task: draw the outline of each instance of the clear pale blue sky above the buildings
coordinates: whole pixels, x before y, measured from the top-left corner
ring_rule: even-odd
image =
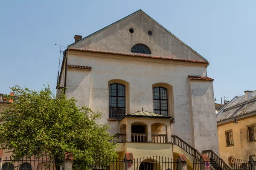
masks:
[[[0,5],[0,93],[55,91],[58,50],[142,9],[210,65],[217,102],[256,90],[255,0],[5,0]]]

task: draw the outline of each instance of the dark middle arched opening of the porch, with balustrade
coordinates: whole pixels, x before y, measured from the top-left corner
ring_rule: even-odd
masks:
[[[131,124],[131,142],[147,142],[147,124],[134,122]]]

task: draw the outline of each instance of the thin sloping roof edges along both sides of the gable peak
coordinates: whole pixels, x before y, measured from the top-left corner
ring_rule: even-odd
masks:
[[[115,25],[115,24],[117,24],[117,23],[120,23],[122,20],[125,20],[125,19],[127,19],[128,17],[131,17],[131,16],[133,16],[134,14],[137,14],[137,13],[139,13],[139,12],[142,12],[143,14],[145,14],[146,16],[148,16],[151,20],[153,20],[155,23],[157,23],[160,27],[162,27],[164,30],[166,30],[169,34],[171,34],[171,35],[172,35],[173,37],[175,37],[177,40],[179,40],[179,41],[182,42],[184,45],[186,45],[186,47],[188,47],[188,48],[191,49],[193,52],[195,52],[195,54],[197,54],[198,56],[200,56],[201,58],[203,58],[206,62],[208,62],[207,59],[205,59],[203,56],[201,56],[201,55],[200,55],[198,52],[196,52],[193,48],[191,48],[191,47],[190,47],[189,45],[187,45],[185,42],[183,42],[182,40],[180,40],[178,37],[176,37],[174,34],[172,34],[172,32],[170,32],[168,29],[166,29],[164,26],[162,26],[160,23],[158,23],[156,20],[154,20],[152,17],[150,17],[148,14],[146,14],[146,13],[145,13],[144,11],[142,11],[141,9],[139,9],[138,11],[135,11],[134,13],[132,13],[132,14],[130,14],[130,15],[124,17],[124,18],[122,18],[121,20],[118,20],[118,21],[116,21],[116,22],[114,22],[114,23],[112,23],[112,24],[110,24],[110,25],[108,25],[108,26],[106,26],[106,27],[100,29],[99,31],[94,32],[93,34],[88,35],[87,37],[82,38],[81,40],[79,40],[79,41],[77,41],[77,42],[74,42],[74,43],[68,45],[67,48],[69,48],[69,47],[71,47],[71,46],[73,46],[73,45],[75,45],[75,44],[77,44],[77,43],[79,43],[79,42],[81,42],[81,41],[87,39],[88,37],[91,37],[91,36],[93,36],[93,35],[95,35],[95,34],[101,32],[101,31],[103,31],[103,30],[105,30],[105,29],[107,29],[107,28],[109,28],[109,27],[111,27],[111,26],[113,26],[113,25]]]

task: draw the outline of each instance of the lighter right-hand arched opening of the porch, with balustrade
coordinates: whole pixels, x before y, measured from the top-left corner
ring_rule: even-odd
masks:
[[[163,123],[154,123],[151,125],[151,142],[167,143],[167,126]]]

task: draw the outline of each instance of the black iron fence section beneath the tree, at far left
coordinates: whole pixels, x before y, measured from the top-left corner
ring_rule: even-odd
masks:
[[[2,170],[63,170],[64,161],[57,161],[46,155],[32,156],[30,158],[3,159]]]

